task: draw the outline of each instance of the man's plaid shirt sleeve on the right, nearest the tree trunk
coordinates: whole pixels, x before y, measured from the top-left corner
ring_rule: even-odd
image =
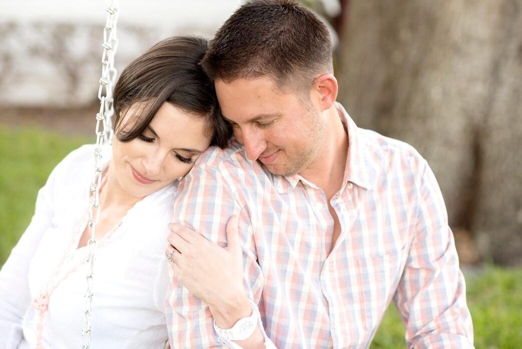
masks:
[[[408,348],[473,348],[466,285],[441,191],[428,164],[419,184],[417,223],[394,302]]]

